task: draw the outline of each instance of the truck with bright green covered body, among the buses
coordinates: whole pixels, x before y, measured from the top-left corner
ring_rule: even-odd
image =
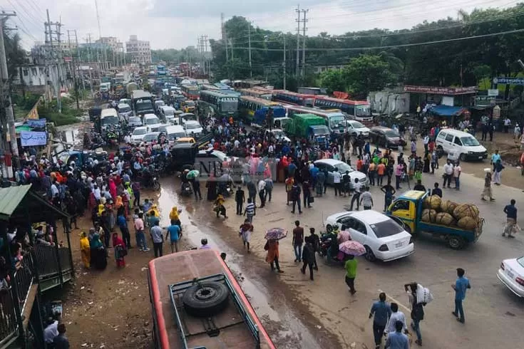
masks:
[[[313,114],[295,114],[292,122],[286,124],[285,130],[288,135],[305,137],[318,143],[326,142],[329,137],[326,120]]]

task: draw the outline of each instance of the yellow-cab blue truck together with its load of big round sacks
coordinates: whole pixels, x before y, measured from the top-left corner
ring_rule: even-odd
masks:
[[[411,234],[426,231],[445,239],[452,249],[476,242],[484,219],[474,204],[457,204],[428,192],[409,190],[392,202],[386,214],[400,219]]]

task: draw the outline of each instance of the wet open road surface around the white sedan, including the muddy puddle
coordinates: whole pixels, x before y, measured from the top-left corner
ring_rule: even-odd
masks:
[[[423,184],[429,187],[435,180],[441,182],[441,177],[424,175]],[[461,192],[445,189],[444,199],[478,204],[481,216],[486,219],[481,239],[463,251],[454,251],[443,241],[423,235],[416,241],[415,254],[406,259],[389,263],[359,259],[355,296],[347,291],[341,266],[327,265],[319,256],[315,281],[302,275],[299,264],[293,262],[290,237],[280,244],[284,274],[272,273],[264,261],[266,229],[282,226],[291,230],[294,220],[300,219],[306,230],[313,226],[322,231],[322,222],[329,214],[344,210],[348,199],[333,197],[331,188],[327,197],[316,200],[313,209],[305,209],[304,214],[299,215],[289,212],[284,188],[275,184],[273,202],[257,210],[251,254],[243,249],[238,237],[242,217],[235,215],[232,198],[226,203],[229,218],[217,219],[209,202],[195,202],[192,197],[179,199],[175,194],[178,182],[165,178],[159,204],[165,212],[163,224],[168,224],[166,215],[170,207],[178,205],[183,209],[182,221],[187,232],[184,239],[198,246],[205,236],[210,244],[227,253],[227,263],[278,348],[373,348],[371,320],[367,318],[372,301],[378,297],[379,290],[385,291],[390,301],[401,303],[401,311],[409,318],[409,311],[403,308],[408,301],[402,286],[410,281],[422,283],[435,296],[433,303],[426,306],[426,318],[421,323],[425,348],[521,348],[524,303],[496,278],[500,261],[523,254],[522,236],[511,241],[500,236],[505,222],[502,209],[510,197],[517,200],[521,197],[520,190],[496,187],[494,193],[498,200],[489,203],[479,200],[482,179],[464,174],[462,183]],[[371,193],[376,207],[383,207],[379,189],[372,188]],[[524,222],[520,225],[524,226]],[[451,316],[454,299],[451,283],[459,266],[466,269],[473,286],[464,305],[465,325]]]

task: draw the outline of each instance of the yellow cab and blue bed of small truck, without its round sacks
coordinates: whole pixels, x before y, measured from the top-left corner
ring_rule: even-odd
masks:
[[[446,240],[452,249],[463,249],[466,245],[474,243],[481,237],[484,219],[479,218],[475,229],[461,229],[458,226],[448,226],[422,221],[423,202],[429,192],[409,190],[394,200],[386,209],[386,214],[395,219],[400,219],[406,230],[411,234],[420,234],[426,231]]]

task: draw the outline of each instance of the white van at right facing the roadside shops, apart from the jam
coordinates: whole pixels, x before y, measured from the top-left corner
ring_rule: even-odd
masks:
[[[488,157],[488,150],[473,135],[451,128],[444,128],[438,132],[436,147],[437,150],[441,149],[443,152],[451,153],[453,158],[461,161],[483,160]]]

